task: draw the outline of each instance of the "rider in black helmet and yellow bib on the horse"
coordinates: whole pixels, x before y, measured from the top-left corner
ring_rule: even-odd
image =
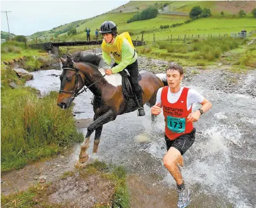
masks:
[[[139,86],[138,75],[139,67],[137,63],[137,53],[133,45],[126,38],[117,35],[117,26],[112,21],[105,21],[100,26],[100,33],[103,35],[102,57],[105,62],[110,64],[112,55],[115,63],[111,69],[106,70],[107,75],[121,72],[125,68],[131,75],[131,85],[134,94],[139,102],[139,116],[144,116],[143,96],[141,86]]]

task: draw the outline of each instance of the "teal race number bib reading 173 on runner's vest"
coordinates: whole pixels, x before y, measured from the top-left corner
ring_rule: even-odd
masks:
[[[174,133],[185,132],[185,118],[175,118],[172,116],[167,116],[167,127]]]

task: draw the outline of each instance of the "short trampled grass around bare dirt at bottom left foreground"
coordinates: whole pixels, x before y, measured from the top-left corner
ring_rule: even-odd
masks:
[[[95,207],[123,207],[128,208],[129,192],[126,185],[126,172],[123,167],[107,165],[106,163],[95,161],[86,167],[79,169],[79,175],[86,180],[89,175],[100,175],[114,185],[110,206],[96,204]],[[74,172],[66,172],[61,176],[61,180],[73,177]],[[30,189],[18,192],[17,194],[1,195],[2,207],[63,207],[63,204],[52,204],[48,201],[49,195],[53,194],[52,184],[37,185]]]

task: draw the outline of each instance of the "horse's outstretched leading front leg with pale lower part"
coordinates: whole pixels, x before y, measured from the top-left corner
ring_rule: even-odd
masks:
[[[91,123],[88,126],[87,134],[85,136],[84,142],[81,145],[81,151],[79,154],[79,163],[85,163],[88,160],[89,155],[86,153],[86,150],[89,148],[90,136],[93,133],[93,131],[95,131],[95,129],[97,129],[97,128],[100,129],[100,127],[103,126],[103,124],[114,120],[116,117],[117,117],[117,115],[114,114],[114,112],[112,110],[109,110],[109,111],[105,112],[105,114],[100,116],[98,119],[93,121],[93,123]],[[101,131],[100,131],[100,134],[101,134]],[[95,135],[95,137],[96,137],[96,135]],[[100,137],[98,137],[98,138],[100,138]]]

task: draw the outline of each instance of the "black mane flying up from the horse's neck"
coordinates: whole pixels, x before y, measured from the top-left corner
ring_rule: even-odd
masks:
[[[74,52],[71,56],[74,61],[87,62],[99,67],[102,62],[101,55],[88,54],[84,52]]]

